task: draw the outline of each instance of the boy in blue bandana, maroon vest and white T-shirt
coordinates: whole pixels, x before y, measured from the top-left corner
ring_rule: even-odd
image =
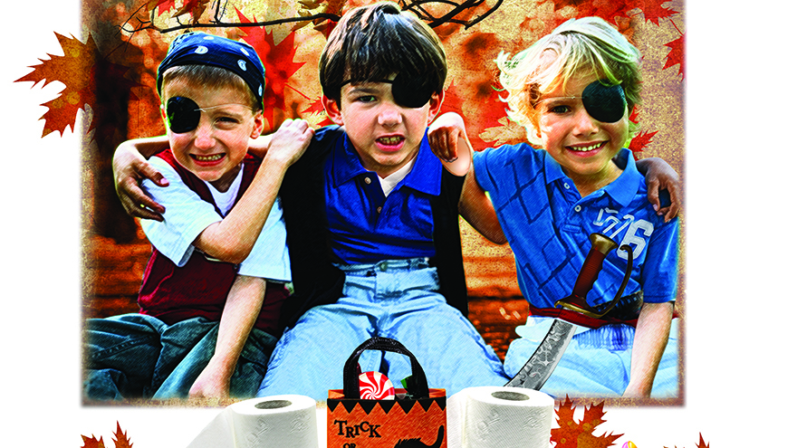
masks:
[[[291,280],[282,177],[312,138],[289,120],[261,161],[264,68],[254,49],[206,33],[180,35],[158,67],[169,149],[150,159],[167,206],[141,223],[152,243],[137,314],[86,322],[84,393],[91,400],[252,396],[280,334]]]

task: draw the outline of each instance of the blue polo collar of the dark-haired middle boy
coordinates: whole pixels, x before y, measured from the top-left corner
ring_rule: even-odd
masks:
[[[439,181],[442,169],[443,164],[432,153],[425,134],[418,149],[415,166],[395,186],[394,190],[398,190],[401,186],[408,186],[428,195],[440,195]],[[343,138],[343,144],[338,145],[332,152],[332,181],[334,186],[341,186],[341,184],[349,182],[354,177],[369,172],[362,167],[360,156],[357,155],[357,151],[354,150],[349,138]]]

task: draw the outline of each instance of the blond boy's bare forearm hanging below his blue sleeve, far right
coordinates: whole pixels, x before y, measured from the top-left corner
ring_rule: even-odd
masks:
[[[673,303],[643,303],[631,348],[629,386],[623,396],[648,397],[669,338]]]

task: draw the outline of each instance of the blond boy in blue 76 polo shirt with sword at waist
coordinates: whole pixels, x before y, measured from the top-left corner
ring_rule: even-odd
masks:
[[[494,239],[505,235],[512,247],[530,305],[506,374],[523,367],[554,318],[579,325],[543,386],[553,396],[677,396],[678,221],[648,203],[648,186],[623,148],[639,103],[639,58],[617,30],[592,17],[560,25],[513,59],[502,53],[509,116],[545,150],[486,149],[475,153],[467,176],[466,200],[485,215],[497,212]],[[443,141],[465,133],[456,115],[433,128]],[[442,146],[440,157],[456,157],[453,144]],[[573,291],[593,233],[632,249],[628,295],[604,319],[554,306]],[[615,297],[628,257],[621,249],[607,255],[588,304]]]

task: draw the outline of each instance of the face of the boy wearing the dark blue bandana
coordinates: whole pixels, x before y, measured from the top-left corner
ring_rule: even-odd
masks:
[[[168,129],[167,108],[161,107],[169,148],[181,166],[226,191],[246,156],[249,139],[263,130],[263,114],[252,110],[245,92],[232,86],[209,89],[177,79],[164,85],[164,104],[175,97],[193,100],[202,110],[195,129],[177,133]]]

